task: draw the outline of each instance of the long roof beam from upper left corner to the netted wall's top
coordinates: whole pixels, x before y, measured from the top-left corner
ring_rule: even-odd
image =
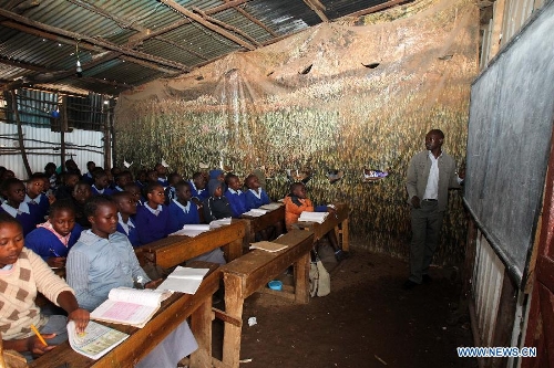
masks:
[[[0,15],[9,18],[11,20],[14,20],[16,22],[19,22],[19,23],[22,23],[22,24],[25,24],[25,25],[29,25],[32,28],[37,28],[37,29],[45,31],[45,32],[50,32],[50,33],[58,34],[58,35],[63,35],[63,36],[70,38],[70,39],[80,40],[80,44],[83,42],[88,42],[90,44],[98,45],[98,46],[101,46],[101,48],[104,48],[104,49],[107,49],[111,51],[121,52],[122,54],[125,54],[127,56],[134,56],[136,59],[151,61],[151,62],[154,62],[157,64],[162,64],[162,65],[170,66],[173,69],[182,70],[184,72],[189,71],[189,67],[187,65],[182,64],[182,63],[166,60],[164,57],[150,55],[150,54],[146,54],[146,53],[143,53],[140,51],[129,49],[129,48],[124,48],[124,46],[122,48],[122,46],[119,46],[119,45],[113,44],[111,42],[104,41],[102,39],[95,39],[95,38],[91,38],[91,36],[80,34],[76,32],[70,32],[70,31],[65,31],[65,30],[62,30],[62,29],[57,28],[57,27],[40,23],[40,22],[27,19],[24,17],[18,15],[16,13],[12,13],[12,12],[3,10],[3,9],[0,9]],[[4,23],[6,22],[3,22],[2,24],[4,24]]]

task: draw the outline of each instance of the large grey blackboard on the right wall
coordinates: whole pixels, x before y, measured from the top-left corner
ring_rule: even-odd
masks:
[[[519,284],[541,211],[554,115],[554,2],[471,88],[464,202]]]

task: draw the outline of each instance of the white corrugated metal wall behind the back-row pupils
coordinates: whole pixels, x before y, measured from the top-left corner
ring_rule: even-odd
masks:
[[[48,162],[60,166],[61,134],[50,128],[23,126],[25,148],[31,170],[43,171]],[[98,166],[104,162],[103,134],[100,132],[73,129],[65,133],[66,159],[73,157],[81,171],[86,171],[86,162],[94,161]],[[12,170],[16,177],[27,179],[23,159],[19,149],[18,127],[14,124],[0,123],[0,166]]]

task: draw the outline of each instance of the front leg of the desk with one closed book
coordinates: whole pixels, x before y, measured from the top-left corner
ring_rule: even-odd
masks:
[[[225,312],[243,320],[243,284],[240,277],[232,274],[224,275],[225,282]],[[223,334],[223,362],[227,367],[238,368],[240,359],[240,333],[242,326],[226,323]]]

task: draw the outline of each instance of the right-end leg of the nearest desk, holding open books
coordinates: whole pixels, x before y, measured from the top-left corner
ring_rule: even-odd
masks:
[[[212,297],[191,315],[191,330],[198,343],[191,354],[191,368],[212,367]]]

